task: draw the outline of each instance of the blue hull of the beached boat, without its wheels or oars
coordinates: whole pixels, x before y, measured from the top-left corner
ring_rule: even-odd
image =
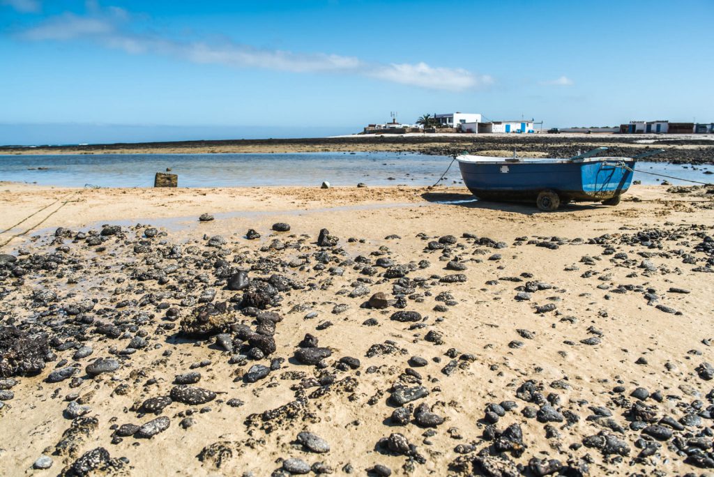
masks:
[[[560,201],[607,201],[632,183],[635,161],[459,161],[468,190],[479,199],[535,201],[541,191],[555,191]],[[630,170],[621,165],[628,166]]]

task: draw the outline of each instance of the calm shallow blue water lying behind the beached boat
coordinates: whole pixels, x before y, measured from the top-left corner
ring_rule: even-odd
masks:
[[[0,181],[48,186],[151,187],[154,174],[170,168],[181,187],[223,186],[370,186],[431,185],[451,157],[405,153],[301,154],[92,154],[63,156],[0,156]],[[41,168],[41,169],[40,169]],[[639,162],[640,171],[667,174],[695,181],[714,182],[714,166],[680,166]],[[643,184],[657,178],[635,172]],[[461,181],[453,164],[443,182]],[[672,184],[685,182],[668,179]]]

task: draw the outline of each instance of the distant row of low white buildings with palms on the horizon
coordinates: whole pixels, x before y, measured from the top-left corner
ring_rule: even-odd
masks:
[[[392,121],[368,124],[361,134],[536,134],[559,133],[609,133],[609,134],[714,134],[714,123],[675,123],[665,120],[630,121],[618,127],[551,128],[543,131],[543,122],[534,119],[512,121],[484,121],[478,113],[424,114],[415,124],[400,123],[396,113]],[[536,127],[539,126],[539,127]]]

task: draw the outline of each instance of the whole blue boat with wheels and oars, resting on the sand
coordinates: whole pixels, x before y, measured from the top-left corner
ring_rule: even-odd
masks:
[[[635,161],[660,151],[631,158],[593,157],[600,147],[570,159],[456,156],[468,190],[487,201],[535,201],[538,209],[554,211],[570,201],[616,206],[632,183]]]

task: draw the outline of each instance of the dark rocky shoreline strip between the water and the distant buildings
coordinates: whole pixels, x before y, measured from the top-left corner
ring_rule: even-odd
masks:
[[[578,151],[607,146],[608,155],[634,156],[645,148],[665,152],[648,161],[674,164],[714,164],[714,141],[697,135],[668,137],[641,135],[555,135],[491,134],[463,136],[353,136],[306,139],[241,139],[224,141],[176,141],[127,144],[90,144],[83,146],[3,146],[0,154],[211,154],[211,153],[290,153],[398,151],[432,155],[454,152],[503,151],[511,154],[544,154],[548,157],[572,157]]]

